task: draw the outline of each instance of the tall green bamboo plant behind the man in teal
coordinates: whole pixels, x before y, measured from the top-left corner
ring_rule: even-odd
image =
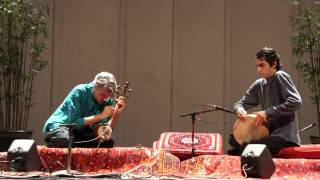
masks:
[[[47,1],[0,1],[0,131],[26,130],[34,77],[46,65]]]

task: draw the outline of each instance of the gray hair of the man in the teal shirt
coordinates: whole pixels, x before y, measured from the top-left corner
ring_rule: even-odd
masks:
[[[112,95],[114,95],[117,89],[117,80],[114,75],[109,72],[98,73],[92,83],[93,86],[98,90],[110,90],[112,92]]]

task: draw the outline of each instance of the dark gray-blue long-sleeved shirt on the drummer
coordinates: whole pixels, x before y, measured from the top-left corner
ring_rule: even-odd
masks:
[[[297,110],[302,104],[301,97],[289,74],[277,71],[272,77],[256,80],[234,109],[248,110],[258,105],[266,112],[270,136],[301,144]]]

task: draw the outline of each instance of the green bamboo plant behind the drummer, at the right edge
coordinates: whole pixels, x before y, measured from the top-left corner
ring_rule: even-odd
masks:
[[[320,2],[315,0],[293,2],[296,6],[291,16],[292,53],[298,59],[295,67],[311,92],[317,118],[320,120]]]

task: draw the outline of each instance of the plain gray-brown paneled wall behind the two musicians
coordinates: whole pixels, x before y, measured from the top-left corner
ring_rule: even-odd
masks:
[[[209,103],[231,108],[257,78],[254,55],[264,46],[278,50],[301,92],[300,127],[315,118],[292,67],[287,0],[53,0],[51,12],[49,66],[36,79],[29,123],[38,144],[50,113],[100,71],[133,89],[115,130],[118,146],[151,146],[161,132],[191,131],[179,114]],[[235,117],[200,118],[196,132],[221,133],[227,149]],[[302,134],[303,143],[316,132]]]

